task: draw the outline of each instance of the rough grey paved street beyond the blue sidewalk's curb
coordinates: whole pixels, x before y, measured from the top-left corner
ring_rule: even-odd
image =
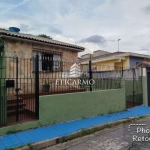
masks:
[[[44,150],[149,150],[150,138],[149,142],[136,142],[136,138],[133,142],[133,136],[149,137],[149,129],[150,117],[146,117]]]

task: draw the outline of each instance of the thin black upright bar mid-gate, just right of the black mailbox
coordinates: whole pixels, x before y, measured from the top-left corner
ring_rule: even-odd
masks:
[[[18,99],[18,57],[16,57],[16,101],[17,101],[17,106],[16,106],[16,122],[19,120],[19,112],[18,112],[18,103],[19,103],[19,99]]]

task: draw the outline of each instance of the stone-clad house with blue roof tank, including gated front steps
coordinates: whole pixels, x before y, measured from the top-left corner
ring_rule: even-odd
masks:
[[[76,92],[76,87],[57,86],[56,80],[70,74],[78,52],[84,51],[17,30],[0,29],[0,126],[38,119],[39,95]]]

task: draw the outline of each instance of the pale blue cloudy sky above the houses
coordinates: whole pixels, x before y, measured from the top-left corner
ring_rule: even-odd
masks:
[[[149,54],[150,0],[0,0],[0,28],[96,50]]]

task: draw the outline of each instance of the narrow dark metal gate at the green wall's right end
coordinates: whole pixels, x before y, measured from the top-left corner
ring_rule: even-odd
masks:
[[[143,104],[142,77],[136,77],[132,69],[132,77],[125,79],[126,108]]]

